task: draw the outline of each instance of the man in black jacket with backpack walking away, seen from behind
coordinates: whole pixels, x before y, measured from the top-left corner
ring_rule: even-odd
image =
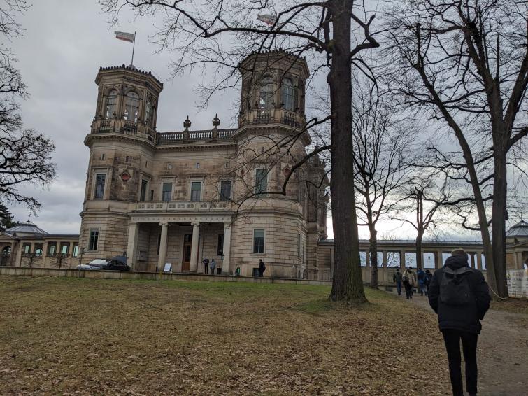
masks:
[[[477,338],[480,320],[490,308],[490,291],[482,272],[471,269],[468,255],[453,250],[443,268],[434,271],[429,304],[438,314],[438,327],[448,353],[453,396],[464,396],[460,369],[460,340],[466,362],[466,390],[477,393]]]

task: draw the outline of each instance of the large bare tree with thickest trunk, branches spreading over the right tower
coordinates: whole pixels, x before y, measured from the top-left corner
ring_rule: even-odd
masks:
[[[355,196],[350,183],[351,69],[354,62],[364,67],[359,52],[378,46],[369,31],[373,15],[364,22],[352,9],[352,0],[213,0],[206,4],[183,0],[101,0],[101,3],[114,13],[114,21],[124,6],[133,8],[137,15],[162,15],[165,24],[160,43],[178,50],[180,55],[174,64],[175,73],[201,65],[211,66],[217,76],[213,86],[204,91],[206,96],[236,84],[238,64],[250,51],[260,53],[280,46],[298,57],[308,55],[312,70],[326,71],[331,98],[331,208],[333,217],[340,220],[334,222],[336,255],[330,298],[364,301],[356,208],[350,199]],[[257,15],[264,22],[259,22]],[[352,34],[357,28],[361,34]],[[227,73],[219,73],[226,67]],[[328,150],[330,146],[319,150]],[[300,162],[309,160],[317,154],[314,153]],[[286,179],[285,183],[290,180]]]

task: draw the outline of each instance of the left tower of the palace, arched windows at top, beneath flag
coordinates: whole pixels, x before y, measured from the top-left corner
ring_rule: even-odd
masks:
[[[99,69],[80,246],[85,257],[122,255],[127,246],[129,203],[150,194],[156,118],[162,83],[134,66]]]

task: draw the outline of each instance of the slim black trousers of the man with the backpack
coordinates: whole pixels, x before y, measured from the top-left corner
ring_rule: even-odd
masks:
[[[462,386],[462,370],[460,364],[460,340],[466,362],[466,390],[468,393],[477,393],[477,339],[478,334],[461,332],[459,330],[442,330],[445,350],[448,352],[449,376],[453,396],[464,396]]]

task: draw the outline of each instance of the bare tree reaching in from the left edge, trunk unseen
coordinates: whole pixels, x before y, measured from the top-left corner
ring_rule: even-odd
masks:
[[[29,7],[24,0],[6,0],[0,6],[0,201],[26,204],[35,211],[40,204],[18,191],[21,185],[48,186],[55,178],[52,141],[34,129],[23,129],[18,101],[29,96],[16,59],[5,41],[21,33],[15,16]]]

